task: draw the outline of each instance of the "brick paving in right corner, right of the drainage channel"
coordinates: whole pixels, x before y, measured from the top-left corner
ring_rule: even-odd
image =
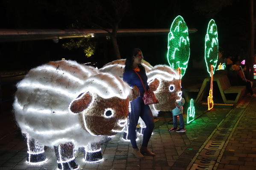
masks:
[[[218,170],[256,170],[256,98],[245,109]]]

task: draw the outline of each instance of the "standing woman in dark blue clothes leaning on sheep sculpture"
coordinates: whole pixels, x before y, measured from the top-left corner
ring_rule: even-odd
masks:
[[[149,106],[145,105],[144,101],[142,100],[145,91],[138,75],[140,75],[144,86],[146,86],[146,90],[149,89],[149,86],[147,84],[146,71],[145,68],[141,65],[142,59],[143,55],[141,50],[132,49],[132,54],[130,54],[129,57],[127,57],[126,59],[123,77],[123,80],[132,87],[133,93],[138,96],[136,99],[130,102],[131,112],[129,113],[128,128],[129,138],[133,148],[132,152],[137,158],[144,158],[142,154],[156,156],[156,154],[150,152],[150,150],[147,149],[147,144],[154,128],[154,119]],[[136,72],[138,73],[138,75],[136,74]],[[139,117],[141,117],[141,119],[145,122],[147,126],[144,131],[143,142],[140,150],[138,150],[138,146],[136,143],[136,127]]]

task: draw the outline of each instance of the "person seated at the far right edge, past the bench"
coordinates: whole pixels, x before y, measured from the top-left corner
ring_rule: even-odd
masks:
[[[252,82],[250,80],[247,80],[244,75],[244,72],[246,71],[246,66],[242,65],[241,67],[242,69],[238,71],[239,85],[246,86],[246,91],[249,92],[251,96],[256,97],[256,94],[253,94]]]

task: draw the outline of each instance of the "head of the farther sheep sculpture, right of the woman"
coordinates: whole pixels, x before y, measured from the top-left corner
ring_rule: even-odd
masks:
[[[169,66],[158,65],[147,73],[148,84],[158,104],[153,104],[154,109],[169,111],[176,107],[177,101],[182,98],[182,91],[179,84],[179,75]]]

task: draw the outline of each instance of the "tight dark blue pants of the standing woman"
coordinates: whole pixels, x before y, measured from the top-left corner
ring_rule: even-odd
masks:
[[[151,137],[151,134],[155,126],[152,112],[149,106],[144,104],[142,97],[138,97],[132,100],[130,104],[131,112],[129,113],[128,134],[130,141],[132,143],[132,148],[138,148],[136,143],[136,127],[138,124],[139,117],[141,117],[141,119],[145,122],[147,126],[143,133],[143,142],[141,146],[147,147],[148,141]]]

